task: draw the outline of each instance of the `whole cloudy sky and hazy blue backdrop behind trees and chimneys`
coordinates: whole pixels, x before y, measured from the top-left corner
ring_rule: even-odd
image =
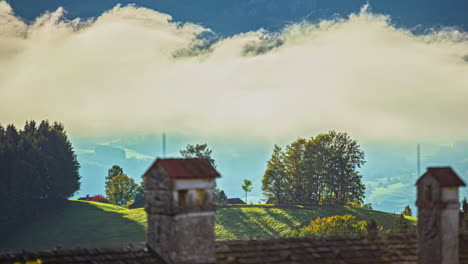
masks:
[[[377,209],[413,203],[417,143],[423,166],[468,176],[466,1],[9,3],[0,122],[63,122],[78,195],[102,193],[116,163],[138,179],[163,132],[171,156],[208,143],[220,187],[243,197],[251,179],[254,202],[274,144],[329,130],[366,151]]]

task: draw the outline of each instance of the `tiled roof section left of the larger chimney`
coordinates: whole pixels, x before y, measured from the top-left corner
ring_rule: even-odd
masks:
[[[0,264],[40,260],[43,264],[165,264],[146,248],[55,248],[0,252]]]

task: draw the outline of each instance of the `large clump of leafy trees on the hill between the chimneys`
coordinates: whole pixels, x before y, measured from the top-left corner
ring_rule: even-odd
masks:
[[[285,151],[275,145],[262,190],[279,204],[361,204],[365,186],[358,169],[364,162],[364,152],[346,133],[299,138]]]

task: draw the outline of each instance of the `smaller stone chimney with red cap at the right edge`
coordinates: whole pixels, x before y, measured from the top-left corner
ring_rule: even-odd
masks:
[[[416,185],[418,263],[458,264],[458,188],[465,183],[450,167],[433,167]]]

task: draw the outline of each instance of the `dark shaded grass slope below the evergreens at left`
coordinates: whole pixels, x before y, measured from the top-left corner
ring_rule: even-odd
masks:
[[[2,239],[0,250],[45,249],[57,245],[114,247],[143,241],[144,226],[125,218],[119,211],[68,201],[62,209],[35,219]]]

